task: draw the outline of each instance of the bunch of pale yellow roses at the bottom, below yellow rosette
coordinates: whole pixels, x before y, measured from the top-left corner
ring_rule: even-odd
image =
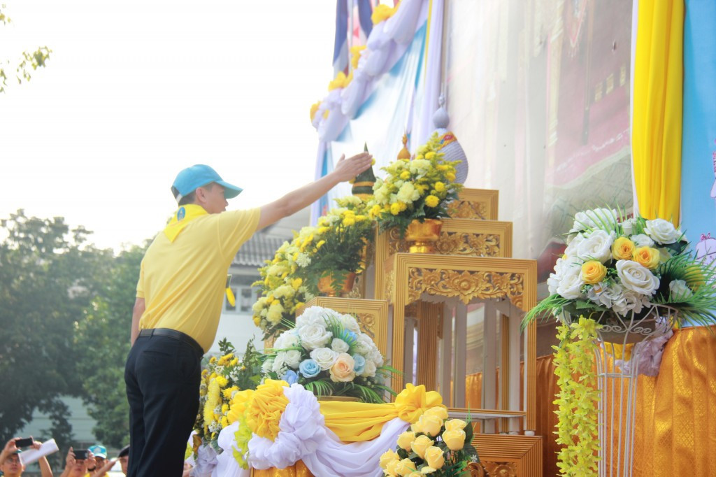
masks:
[[[380,456],[384,476],[460,476],[471,462],[478,461],[470,443],[473,426],[460,419],[448,420],[442,406],[430,408],[397,438],[397,450]]]

